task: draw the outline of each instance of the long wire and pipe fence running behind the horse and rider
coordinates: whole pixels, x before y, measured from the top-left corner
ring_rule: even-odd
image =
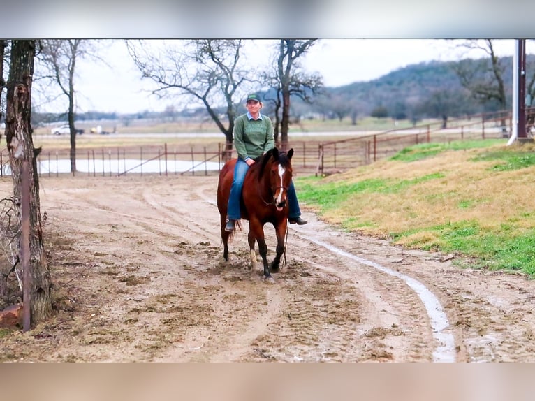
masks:
[[[373,133],[356,133],[342,140],[290,140],[278,143],[283,150],[294,149],[292,166],[295,175],[324,175],[355,168],[393,156],[405,147],[418,143],[444,143],[452,140],[508,138],[511,112],[493,112],[436,122],[403,129]],[[41,177],[72,175],[123,176],[140,175],[212,175],[219,173],[225,143],[196,145],[144,145],[140,147],[98,147],[78,149],[71,160],[68,149],[41,152],[37,171]],[[230,157],[236,157],[235,150]],[[0,176],[10,175],[8,154],[0,152]],[[73,165],[75,168],[73,168]]]

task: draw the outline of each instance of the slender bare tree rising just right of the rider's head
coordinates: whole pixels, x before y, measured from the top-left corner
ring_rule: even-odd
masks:
[[[277,54],[277,99],[282,108],[280,118],[281,147],[288,143],[288,128],[290,125],[290,97],[298,96],[307,103],[312,103],[311,96],[321,92],[323,80],[321,75],[307,74],[302,70],[299,58],[302,57],[316,42],[316,39],[295,40],[281,39]],[[275,120],[278,122],[278,118]]]

